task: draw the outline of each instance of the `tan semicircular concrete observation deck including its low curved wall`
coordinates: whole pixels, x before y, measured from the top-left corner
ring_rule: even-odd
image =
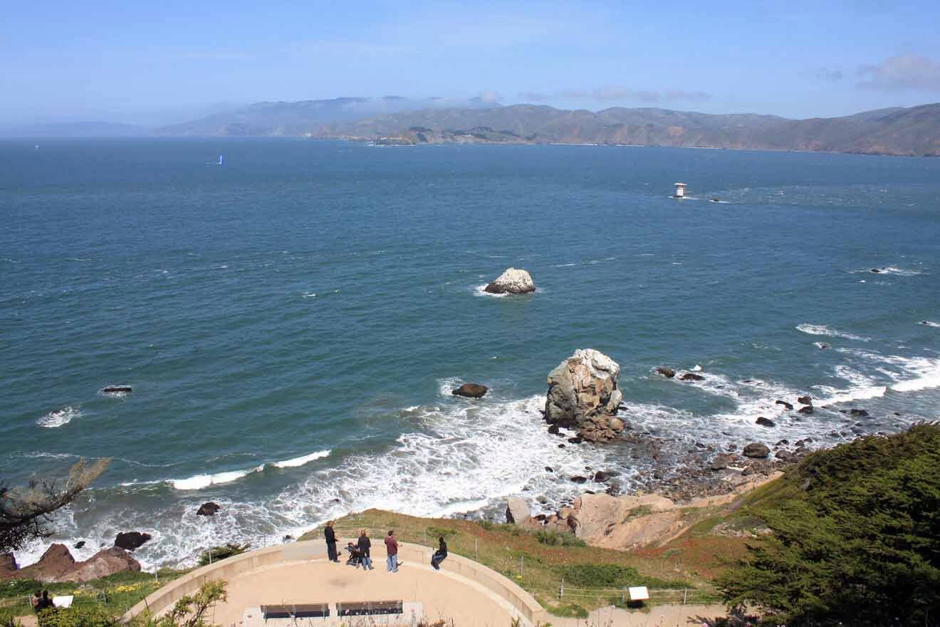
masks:
[[[341,549],[348,539],[337,542]],[[323,541],[303,541],[258,549],[229,557],[211,566],[190,572],[151,593],[134,605],[124,619],[149,608],[162,614],[180,597],[196,592],[206,581],[227,581],[228,601],[219,603],[208,616],[222,627],[269,627],[294,624],[294,619],[261,619],[261,605],[290,603],[330,603],[329,619],[305,618],[305,625],[349,624],[351,619],[368,619],[376,624],[411,625],[412,610],[434,622],[454,620],[461,627],[509,627],[514,618],[524,625],[545,622],[548,615],[540,604],[509,578],[472,559],[450,554],[440,571],[431,568],[433,550],[426,546],[399,542],[399,572],[385,571],[382,539],[372,539],[374,571],[363,571],[326,558]],[[378,544],[378,546],[376,546]],[[337,617],[336,603],[402,601],[406,612],[396,616]],[[373,620],[374,619],[374,620]]]

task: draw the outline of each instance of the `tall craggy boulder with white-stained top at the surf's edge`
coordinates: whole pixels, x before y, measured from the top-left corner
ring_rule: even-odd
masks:
[[[545,421],[574,429],[588,442],[607,442],[623,429],[617,409],[620,367],[594,349],[579,349],[548,374]]]

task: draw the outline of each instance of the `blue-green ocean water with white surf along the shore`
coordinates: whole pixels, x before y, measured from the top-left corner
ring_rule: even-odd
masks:
[[[57,520],[81,557],[130,529],[150,566],[368,507],[550,508],[585,465],[629,484],[643,460],[541,422],[578,348],[619,362],[632,428],[679,446],[938,417],[940,160],[6,141],[0,218],[0,477],[113,457]],[[484,295],[510,266],[538,292]],[[452,397],[463,381],[492,392]],[[807,393],[815,415],[775,404]],[[196,517],[207,500],[223,511]]]

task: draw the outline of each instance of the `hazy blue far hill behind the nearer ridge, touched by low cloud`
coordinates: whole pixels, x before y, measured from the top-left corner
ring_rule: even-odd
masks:
[[[460,106],[463,109],[475,109],[495,105],[479,99],[448,101],[442,98],[410,99],[401,96],[331,98],[329,100],[301,102],[258,102],[237,111],[219,113],[192,122],[164,126],[157,129],[156,133],[199,137],[304,136],[323,125],[442,106]]]

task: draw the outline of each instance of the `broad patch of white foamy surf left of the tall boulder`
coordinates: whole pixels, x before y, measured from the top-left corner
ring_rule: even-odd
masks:
[[[441,382],[442,396],[453,398],[455,381]],[[599,447],[559,448],[565,440],[547,432],[539,413],[543,403],[535,396],[410,408],[408,417],[420,424],[420,431],[402,434],[381,455],[353,456],[318,470],[301,486],[280,494],[271,508],[300,523],[311,520],[308,511],[315,504],[321,509],[311,520],[316,523],[369,508],[446,516],[524,491],[545,494],[557,505],[564,495],[580,490],[559,478],[588,475],[586,465],[606,469],[611,462]]]

